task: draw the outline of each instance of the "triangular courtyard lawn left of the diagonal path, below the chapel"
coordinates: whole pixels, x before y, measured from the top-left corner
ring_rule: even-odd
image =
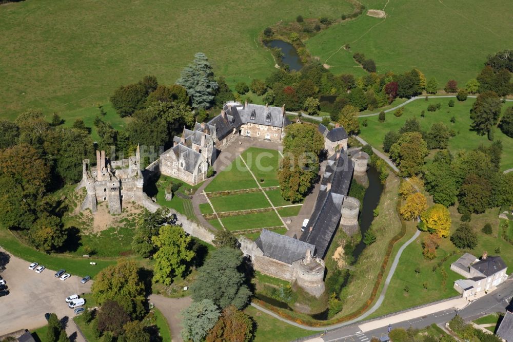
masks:
[[[258,187],[241,157],[238,157],[207,185],[205,192],[229,191]]]

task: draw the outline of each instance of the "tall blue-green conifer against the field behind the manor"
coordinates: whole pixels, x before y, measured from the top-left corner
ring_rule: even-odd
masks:
[[[176,84],[187,90],[194,108],[208,108],[219,87],[207,56],[202,52],[194,55],[194,60],[182,70]]]

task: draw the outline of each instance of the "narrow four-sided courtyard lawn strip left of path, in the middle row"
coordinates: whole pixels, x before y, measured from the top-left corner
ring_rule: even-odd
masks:
[[[242,193],[210,198],[216,212],[231,212],[236,210],[260,209],[271,206],[261,191],[257,193]]]

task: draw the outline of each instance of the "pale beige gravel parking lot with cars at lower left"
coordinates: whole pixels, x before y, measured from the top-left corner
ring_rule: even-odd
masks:
[[[73,275],[62,281],[54,277],[56,270],[49,269],[38,274],[28,269],[31,262],[38,260],[25,261],[11,255],[6,270],[1,274],[10,293],[0,297],[0,336],[19,329],[44,326],[47,312],[56,313],[59,319],[65,316],[72,319],[73,309],[68,308],[64,300],[71,294],[90,292],[92,281],[82,284],[82,278]]]

